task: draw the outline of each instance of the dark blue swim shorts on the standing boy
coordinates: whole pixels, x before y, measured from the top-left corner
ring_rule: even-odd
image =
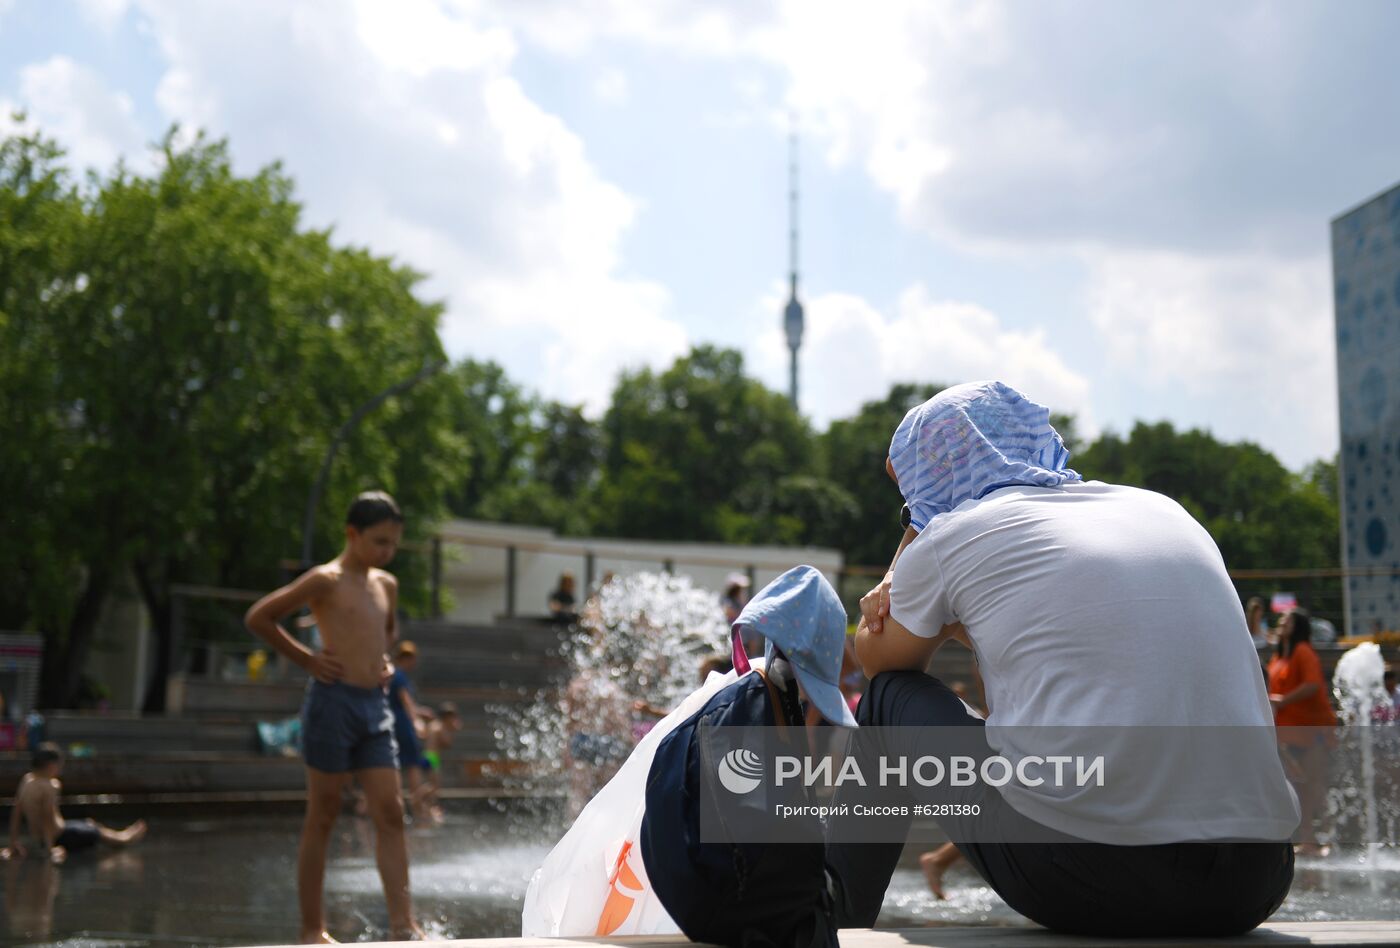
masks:
[[[395,769],[399,749],[388,695],[312,681],[301,706],[301,746],[307,766],[325,773]]]

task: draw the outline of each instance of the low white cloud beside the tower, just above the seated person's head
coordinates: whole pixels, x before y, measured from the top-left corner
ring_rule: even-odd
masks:
[[[778,295],[760,307],[776,312]],[[1043,330],[1009,329],[983,307],[932,300],[923,284],[906,288],[892,312],[843,293],[818,295],[805,311],[799,400],[818,426],[883,398],[895,382],[997,378],[1051,410],[1077,414],[1082,434],[1098,431],[1088,378],[1065,364]],[[753,368],[787,391],[787,343],[777,328],[756,340]]]

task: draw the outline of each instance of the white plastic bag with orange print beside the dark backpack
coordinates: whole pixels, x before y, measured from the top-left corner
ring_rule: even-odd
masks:
[[[753,662],[762,667],[762,661]],[[736,672],[711,674],[633,748],[622,769],[535,870],[521,913],[522,937],[664,935],[680,928],[651,889],[641,861],[647,774],[657,746]]]

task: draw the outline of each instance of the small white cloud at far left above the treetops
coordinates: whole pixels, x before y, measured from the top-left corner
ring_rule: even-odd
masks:
[[[106,171],[119,155],[127,155],[129,164],[146,158],[130,97],[67,56],[21,69],[18,101],[4,111],[13,108],[24,109],[31,126],[57,139],[76,171]]]

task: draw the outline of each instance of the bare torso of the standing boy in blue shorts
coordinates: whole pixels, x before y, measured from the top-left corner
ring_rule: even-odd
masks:
[[[325,651],[344,669],[342,681],[358,688],[378,688],[384,654],[396,636],[395,611],[399,583],[391,573],[347,570],[339,560],[315,567],[321,581],[311,599]]]

